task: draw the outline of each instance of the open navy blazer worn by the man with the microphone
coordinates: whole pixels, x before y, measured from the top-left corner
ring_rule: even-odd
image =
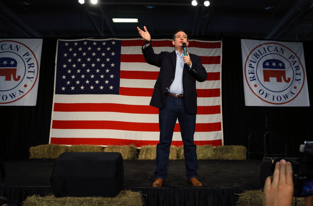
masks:
[[[160,67],[160,73],[154,85],[154,90],[150,105],[162,108],[164,94],[172,84],[176,70],[176,52],[161,52],[154,54],[152,45],[146,47],[146,44],[141,48],[145,60],[148,64]],[[201,58],[195,54],[189,54],[192,68],[187,64],[184,65],[182,74],[182,87],[184,91],[184,99],[187,109],[192,114],[197,114],[197,90],[196,80],[203,82],[208,78],[208,74],[202,65]]]

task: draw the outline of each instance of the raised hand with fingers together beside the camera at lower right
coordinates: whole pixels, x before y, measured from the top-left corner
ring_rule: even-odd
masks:
[[[263,206],[291,206],[293,192],[292,166],[282,159],[276,163],[273,176],[266,178]]]

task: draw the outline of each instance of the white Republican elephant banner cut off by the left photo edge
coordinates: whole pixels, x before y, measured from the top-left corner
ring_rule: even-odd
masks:
[[[35,106],[42,39],[0,39],[0,105]]]

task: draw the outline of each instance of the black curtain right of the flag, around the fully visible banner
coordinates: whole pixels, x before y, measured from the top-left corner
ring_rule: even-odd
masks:
[[[313,104],[312,46],[312,41],[303,42],[310,105]],[[241,41],[240,39],[225,40],[222,59],[224,145],[244,145],[248,148],[250,134],[254,133],[263,138],[265,132],[271,131],[287,143],[287,157],[298,157],[300,144],[305,140],[313,139],[312,106],[245,106],[243,83]],[[251,152],[264,151],[263,142],[256,140],[254,136]],[[270,154],[285,152],[285,145],[276,141],[271,134],[268,135],[267,143]],[[263,154],[253,155],[253,157],[262,158]]]

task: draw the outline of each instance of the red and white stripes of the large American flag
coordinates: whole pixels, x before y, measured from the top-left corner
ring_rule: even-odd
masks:
[[[54,95],[50,143],[141,147],[159,142],[158,109],[149,103],[160,68],[146,63],[143,44],[139,39],[122,40],[120,95]],[[196,83],[197,145],[223,145],[221,44],[190,40],[187,49],[201,57],[208,73],[205,82]],[[152,46],[155,53],[174,50],[171,40],[154,40]],[[178,121],[172,145],[182,145]]]

